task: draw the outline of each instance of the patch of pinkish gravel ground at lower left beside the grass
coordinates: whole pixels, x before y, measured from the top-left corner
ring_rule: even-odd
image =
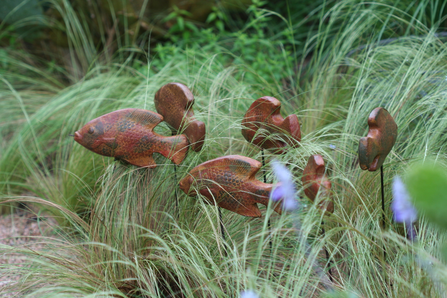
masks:
[[[11,248],[40,250],[42,244],[36,243],[38,242],[37,237],[54,237],[55,233],[52,233],[52,227],[56,225],[54,219],[49,217],[36,218],[35,216],[35,214],[25,211],[0,216],[0,245],[2,252],[5,250],[5,245]],[[6,292],[4,287],[21,277],[20,269],[17,267],[26,267],[27,263],[26,257],[19,253],[0,254],[0,298],[20,297],[17,292]]]

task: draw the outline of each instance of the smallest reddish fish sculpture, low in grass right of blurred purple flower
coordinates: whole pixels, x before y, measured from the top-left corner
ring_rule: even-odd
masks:
[[[301,181],[303,182],[304,193],[312,202],[315,201],[318,191],[320,191],[320,195],[329,196],[329,198],[331,197],[330,190],[332,188],[332,183],[327,179],[325,169],[323,156],[315,154],[309,157]],[[326,212],[333,213],[333,201],[323,201],[321,209],[324,208],[326,209]]]

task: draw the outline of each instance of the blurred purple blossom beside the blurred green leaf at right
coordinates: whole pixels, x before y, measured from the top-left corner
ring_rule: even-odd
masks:
[[[408,231],[408,239],[414,240],[416,231],[414,230],[413,222],[417,220],[417,211],[411,203],[405,184],[399,176],[394,177],[392,197],[391,210],[394,220],[404,223]]]

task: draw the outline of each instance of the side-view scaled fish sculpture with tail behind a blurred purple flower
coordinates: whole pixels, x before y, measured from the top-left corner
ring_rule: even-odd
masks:
[[[268,205],[273,184],[255,178],[260,168],[259,161],[246,156],[221,156],[193,168],[179,185],[192,197],[197,196],[198,189],[211,205],[216,201],[219,207],[237,214],[261,217],[257,203]],[[273,208],[281,214],[281,206],[282,201],[278,201]]]

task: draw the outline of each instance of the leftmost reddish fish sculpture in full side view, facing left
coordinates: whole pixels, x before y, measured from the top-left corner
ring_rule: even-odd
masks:
[[[155,168],[158,152],[180,164],[188,151],[184,134],[165,137],[153,131],[163,116],[144,109],[120,109],[93,119],[75,132],[75,141],[104,156],[139,167]]]

